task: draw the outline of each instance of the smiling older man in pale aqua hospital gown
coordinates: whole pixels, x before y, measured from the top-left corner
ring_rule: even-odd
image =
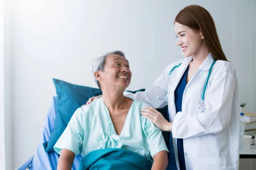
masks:
[[[54,150],[60,154],[58,170],[71,170],[74,157],[94,150],[122,148],[153,162],[152,170],[168,164],[161,130],[140,114],[146,103],[123,95],[131,82],[129,62],[121,51],[113,51],[92,62],[102,98],[78,108]],[[122,169],[122,168],[121,168]]]

